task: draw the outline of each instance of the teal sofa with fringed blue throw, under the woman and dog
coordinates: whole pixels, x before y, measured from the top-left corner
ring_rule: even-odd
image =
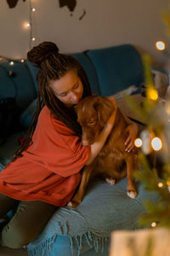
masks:
[[[140,92],[144,82],[141,56],[133,45],[123,44],[104,49],[89,49],[73,54],[82,63],[92,90],[97,95],[111,96],[135,86]],[[11,65],[14,64],[14,65]],[[8,134],[0,147],[0,166],[8,163],[26,134],[37,101],[37,68],[29,61],[1,59],[0,97],[14,97],[18,116],[17,129]],[[138,218],[145,212],[144,200],[156,201],[156,195],[138,184],[135,200],[126,193],[127,179],[115,185],[102,180],[90,183],[77,208],[60,207],[49,220],[42,234],[28,246],[30,256],[106,256],[109,255],[113,230],[138,229]],[[41,212],[40,212],[41,214]]]

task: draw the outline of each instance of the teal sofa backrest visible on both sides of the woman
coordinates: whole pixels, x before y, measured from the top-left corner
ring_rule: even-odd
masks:
[[[144,81],[142,61],[138,51],[129,44],[103,49],[91,49],[72,54],[85,69],[92,91],[111,96],[131,85]],[[22,115],[20,123],[27,127],[36,108],[38,68],[23,63],[0,60],[0,97],[15,97]]]

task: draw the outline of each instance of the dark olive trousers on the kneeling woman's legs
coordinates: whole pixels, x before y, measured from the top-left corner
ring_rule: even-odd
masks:
[[[11,248],[24,247],[33,241],[57,208],[43,201],[17,201],[0,194],[0,218],[17,204],[14,217],[1,232],[1,244]]]

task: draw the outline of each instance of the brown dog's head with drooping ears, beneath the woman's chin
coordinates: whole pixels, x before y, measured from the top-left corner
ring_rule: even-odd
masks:
[[[95,142],[114,111],[116,102],[103,96],[88,96],[77,104],[77,121],[82,126],[83,145]]]

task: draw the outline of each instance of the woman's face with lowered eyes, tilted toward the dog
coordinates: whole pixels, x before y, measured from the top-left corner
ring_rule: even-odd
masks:
[[[82,99],[82,81],[73,69],[65,73],[60,79],[51,80],[49,86],[59,101],[63,102],[67,107],[77,105]]]

